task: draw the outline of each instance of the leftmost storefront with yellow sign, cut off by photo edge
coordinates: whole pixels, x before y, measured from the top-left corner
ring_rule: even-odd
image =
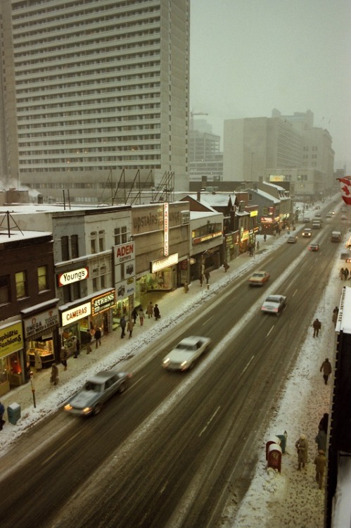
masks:
[[[0,396],[25,382],[22,321],[0,326]]]

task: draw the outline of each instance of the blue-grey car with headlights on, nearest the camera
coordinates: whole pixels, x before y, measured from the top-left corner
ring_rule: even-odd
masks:
[[[68,400],[64,410],[74,415],[97,415],[103,403],[111,396],[127,390],[130,377],[132,375],[127,372],[101,370],[88,379],[82,389]]]

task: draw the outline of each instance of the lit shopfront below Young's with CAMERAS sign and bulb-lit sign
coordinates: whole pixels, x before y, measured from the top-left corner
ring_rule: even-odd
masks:
[[[73,338],[77,337],[81,346],[87,346],[94,337],[95,329],[101,329],[101,335],[110,332],[115,309],[115,290],[104,291],[92,298],[80,299],[79,303],[60,306],[60,346],[63,346],[68,356],[73,351]]]

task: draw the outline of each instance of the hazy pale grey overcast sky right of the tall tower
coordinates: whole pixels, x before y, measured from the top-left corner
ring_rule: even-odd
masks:
[[[351,174],[350,0],[191,0],[190,49],[190,106],[215,134],[311,110]]]

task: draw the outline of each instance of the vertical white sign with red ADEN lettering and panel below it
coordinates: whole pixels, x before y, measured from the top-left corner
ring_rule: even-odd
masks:
[[[135,293],[135,244],[114,246],[115,291],[117,297],[124,298]]]

